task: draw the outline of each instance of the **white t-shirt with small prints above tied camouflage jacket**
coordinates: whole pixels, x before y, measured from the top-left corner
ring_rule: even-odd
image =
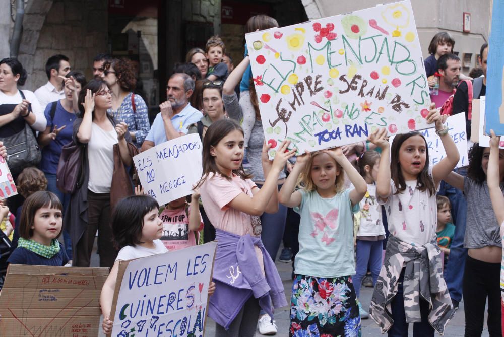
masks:
[[[432,167],[429,167],[428,172],[433,179]],[[384,203],[383,199],[376,199],[385,206],[390,234],[413,246],[423,246],[436,234],[436,194],[430,195],[428,190],[422,192],[417,189],[416,180],[405,183],[406,189],[394,194],[397,189],[390,179],[391,192],[387,201]],[[436,189],[439,190],[439,186]]]

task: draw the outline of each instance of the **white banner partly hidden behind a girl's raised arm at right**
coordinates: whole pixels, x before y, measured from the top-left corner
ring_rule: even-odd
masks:
[[[466,131],[466,117],[463,113],[458,113],[456,115],[448,117],[446,120],[448,126],[448,133],[453,139],[453,142],[457,146],[459,151],[460,159],[457,163],[457,167],[464,167],[469,165],[469,160],[467,157],[467,131]],[[420,133],[425,137],[427,142],[427,148],[429,151],[429,161],[430,165],[435,165],[439,163],[443,158],[446,157],[446,151],[443,147],[441,139],[436,134],[435,127],[421,130]],[[395,136],[391,136],[389,143],[392,145],[392,141]]]

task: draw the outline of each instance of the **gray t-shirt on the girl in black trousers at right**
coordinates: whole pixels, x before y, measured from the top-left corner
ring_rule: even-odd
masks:
[[[501,184],[500,189],[504,192],[504,185]],[[486,246],[502,247],[499,223],[492,209],[486,181],[477,184],[474,180],[464,177],[464,195],[467,199],[464,247],[473,249]]]

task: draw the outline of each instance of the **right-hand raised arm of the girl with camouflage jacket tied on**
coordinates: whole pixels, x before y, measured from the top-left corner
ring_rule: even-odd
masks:
[[[439,114],[439,110],[435,108],[434,103],[430,105],[430,111],[427,115],[427,123],[432,122],[436,124],[436,133],[439,135],[446,151],[446,157],[432,168],[432,177],[437,186],[441,180],[445,179],[452,172],[459,162],[460,156],[452,136],[448,134],[448,126],[442,123],[441,115]]]

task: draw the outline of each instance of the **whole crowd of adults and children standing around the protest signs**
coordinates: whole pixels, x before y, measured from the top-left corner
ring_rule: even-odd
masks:
[[[257,15],[245,32],[272,27],[275,19]],[[426,119],[447,153],[435,165],[420,132],[390,145],[385,129],[297,157],[284,141],[270,161],[246,45],[235,67],[218,36],[175,66],[152,125],[126,58],[97,55],[87,81],[54,55],[34,93],[18,89],[22,64],[1,60],[0,156],[21,159],[8,160],[19,195],[0,203],[0,286],[9,263],[90,266],[97,236],[100,266],[111,268],[100,300],[109,333],[118,261],[217,240],[208,309],[216,336],[254,336],[258,327],[286,334],[273,320],[286,295],[290,336],[360,336],[369,316],[389,336],[407,336],[409,323],[414,336],[443,334],[462,299],[466,336],[481,335],[486,302],[489,334],[501,336],[504,150],[492,133],[490,147],[471,144],[469,166],[455,170],[459,153],[444,123],[463,112],[470,134],[488,45],[474,78],[461,74],[454,46],[438,33],[425,59]],[[203,141],[202,179],[160,207],[138,185],[132,158],[190,133]],[[282,241],[291,294],[275,267]],[[366,277],[369,313],[359,301]]]

